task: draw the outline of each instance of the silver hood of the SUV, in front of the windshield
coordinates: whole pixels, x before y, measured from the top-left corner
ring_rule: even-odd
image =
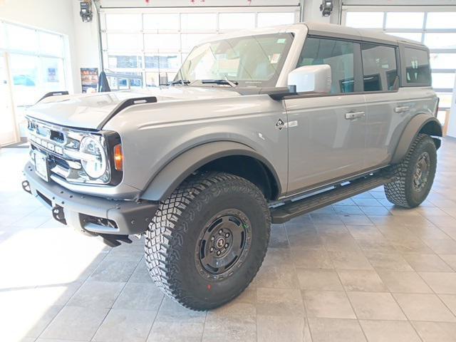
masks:
[[[157,102],[191,101],[240,96],[231,88],[221,86],[169,86],[111,93],[60,95],[45,98],[28,108],[27,116],[55,125],[97,129],[124,100],[155,96]],[[153,104],[152,104],[153,105]]]

